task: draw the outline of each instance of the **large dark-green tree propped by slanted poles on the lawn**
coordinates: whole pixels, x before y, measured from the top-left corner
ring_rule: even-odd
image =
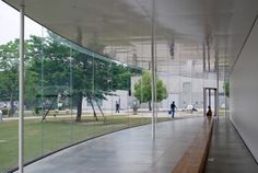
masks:
[[[44,41],[33,36],[30,43],[33,55],[37,55],[39,51],[38,56],[31,60],[30,71],[39,76],[44,72],[44,78],[35,84],[34,89],[40,95],[40,83],[43,83],[45,96],[55,96],[68,90],[67,92],[72,96],[72,103],[77,105],[77,122],[81,122],[84,96],[86,96],[94,117],[97,119],[93,101],[97,104],[99,100],[105,100],[105,95],[112,94],[115,90],[129,91],[131,74],[139,71],[107,60],[106,57],[97,53],[73,48],[77,46],[52,33],[49,33],[49,37]],[[42,66],[44,66],[44,71],[42,71]],[[72,81],[69,78],[71,73]],[[72,93],[68,89],[70,82],[72,83]],[[47,93],[47,91],[51,93]],[[46,97],[46,100],[48,99]],[[98,104],[97,106],[101,109]]]

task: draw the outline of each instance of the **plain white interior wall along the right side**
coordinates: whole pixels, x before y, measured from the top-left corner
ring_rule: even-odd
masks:
[[[231,81],[231,120],[258,161],[258,22],[236,61]]]

